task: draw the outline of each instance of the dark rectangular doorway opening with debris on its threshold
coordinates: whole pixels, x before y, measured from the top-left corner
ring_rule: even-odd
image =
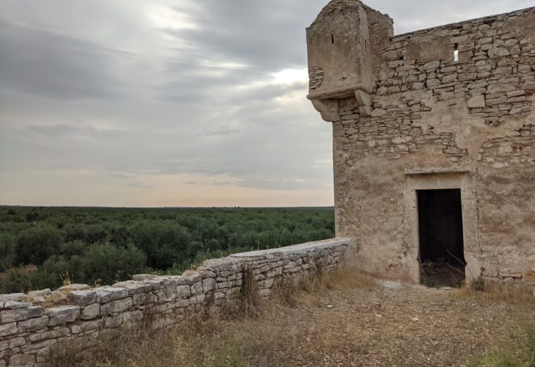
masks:
[[[419,190],[421,283],[459,287],[464,282],[461,190]]]

